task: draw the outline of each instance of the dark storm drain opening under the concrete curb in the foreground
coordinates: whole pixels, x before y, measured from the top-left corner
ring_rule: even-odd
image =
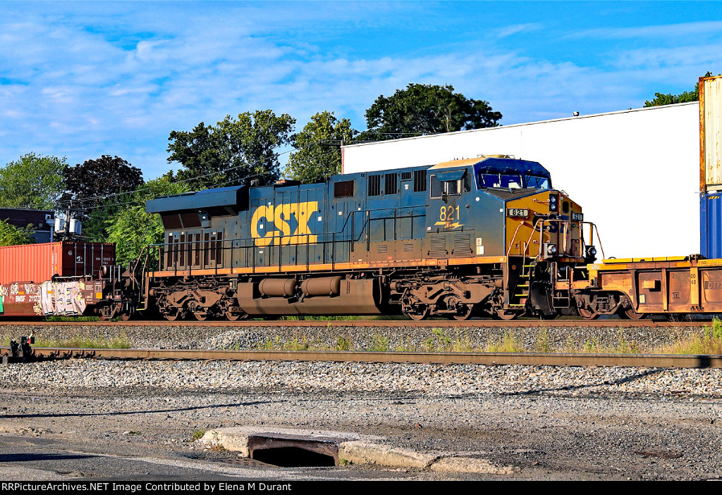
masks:
[[[248,455],[283,468],[334,466],[339,465],[339,441],[290,434],[253,434],[248,437]]]

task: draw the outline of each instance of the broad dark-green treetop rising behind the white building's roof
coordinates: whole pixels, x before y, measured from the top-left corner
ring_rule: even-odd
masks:
[[[499,125],[501,113],[488,102],[454,93],[453,86],[409,84],[391,97],[380,95],[366,110],[363,139],[382,141],[406,135],[449,133]]]

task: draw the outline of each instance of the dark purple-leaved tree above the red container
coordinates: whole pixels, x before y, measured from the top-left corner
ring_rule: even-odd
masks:
[[[86,160],[63,171],[66,192],[73,205],[92,208],[103,198],[121,192],[133,192],[143,184],[142,171],[127,161],[110,155]]]

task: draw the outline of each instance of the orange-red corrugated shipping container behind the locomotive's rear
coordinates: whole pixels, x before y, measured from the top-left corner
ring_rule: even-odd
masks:
[[[0,247],[0,284],[41,283],[59,277],[98,276],[101,267],[116,263],[116,245],[53,242]]]

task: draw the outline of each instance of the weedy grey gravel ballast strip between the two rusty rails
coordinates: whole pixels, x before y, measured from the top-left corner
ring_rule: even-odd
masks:
[[[440,322],[443,324],[443,322]],[[364,326],[330,324],[319,321],[307,326],[289,324],[274,326],[140,326],[118,325],[0,325],[0,340],[18,339],[31,332],[40,341],[68,339],[118,339],[136,348],[162,349],[239,349],[262,348],[329,350],[440,350],[460,351],[484,349],[499,343],[505,336],[528,352],[573,352],[585,345],[617,349],[633,348],[648,352],[703,332],[701,326],[544,326],[538,322],[518,327],[508,326]],[[544,347],[543,349],[541,347]]]

